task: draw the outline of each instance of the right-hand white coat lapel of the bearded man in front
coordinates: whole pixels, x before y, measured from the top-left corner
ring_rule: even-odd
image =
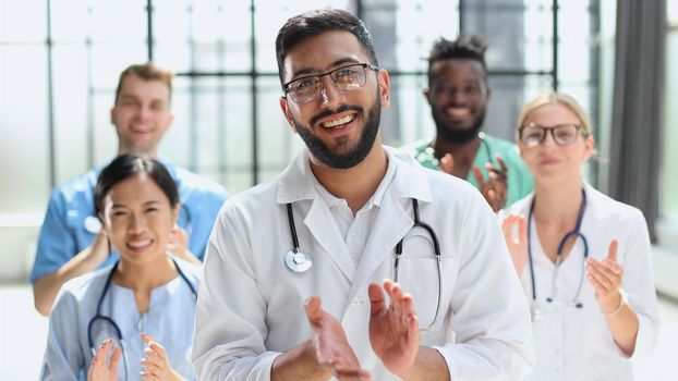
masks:
[[[361,287],[371,280],[384,260],[392,259],[396,244],[410,231],[412,223],[412,218],[396,194],[387,192],[367,237],[365,251],[355,270],[349,300],[352,300]],[[392,278],[392,274],[389,273],[388,276]]]

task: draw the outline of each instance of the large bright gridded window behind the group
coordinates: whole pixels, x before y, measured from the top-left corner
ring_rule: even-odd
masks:
[[[388,144],[433,137],[426,57],[460,33],[489,45],[488,133],[512,138],[522,103],[555,88],[598,120],[598,1],[0,0],[0,213],[41,214],[51,186],[114,155],[118,75],[147,60],[177,73],[162,155],[231,192],[278,173],[303,143],[278,107],[274,40],[317,7],[347,9],[372,30],[394,85]]]

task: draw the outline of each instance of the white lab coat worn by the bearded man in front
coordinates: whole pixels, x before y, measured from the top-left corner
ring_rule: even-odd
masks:
[[[531,371],[528,304],[486,201],[464,181],[386,149],[395,177],[356,265],[314,188],[307,151],[277,177],[227,201],[207,245],[198,296],[193,345],[198,379],[269,380],[276,356],[311,336],[303,304],[312,295],[341,322],[374,380],[397,379],[370,345],[367,285],[392,276],[398,241],[422,234],[410,232],[412,198],[421,220],[437,233],[443,257],[441,317],[433,331],[422,333],[421,344],[443,354],[455,381],[519,380]],[[292,248],[288,202],[301,250],[313,258],[304,273],[283,262]],[[421,322],[432,320],[438,287],[426,243],[405,241],[400,272],[416,275],[403,288],[414,294]]]

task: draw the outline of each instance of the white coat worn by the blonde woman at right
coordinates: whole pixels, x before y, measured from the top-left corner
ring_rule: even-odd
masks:
[[[632,358],[646,355],[656,342],[659,328],[654,290],[652,257],[647,224],[642,212],[615,201],[584,185],[586,209],[580,232],[589,243],[589,257],[597,260],[608,255],[609,243],[619,241],[617,260],[623,268],[621,290],[639,319],[639,332]],[[508,212],[525,218],[534,195],[516,202]],[[508,214],[508,213],[506,213]],[[501,213],[501,217],[505,213]],[[548,259],[538,241],[536,224],[532,223],[531,247],[536,280],[537,303],[544,312],[533,322],[537,365],[533,380],[615,380],[633,379],[630,358],[617,347],[606,318],[595,299],[594,288],[585,273],[579,302],[583,307],[560,307],[571,303],[584,271],[584,246],[577,239],[572,251],[560,265],[556,294],[553,292],[555,265]],[[525,266],[521,282],[532,300],[530,267]],[[547,297],[555,302],[548,304]],[[549,307],[550,306],[550,307]],[[555,307],[554,307],[555,306]]]

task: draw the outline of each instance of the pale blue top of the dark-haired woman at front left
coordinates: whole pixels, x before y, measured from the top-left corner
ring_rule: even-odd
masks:
[[[197,291],[202,268],[175,259],[186,278]],[[85,380],[93,354],[87,340],[87,327],[96,315],[97,303],[111,268],[100,269],[74,278],[59,292],[55,308],[49,315],[47,349],[43,360],[40,380]],[[162,345],[172,368],[189,380],[195,380],[191,365],[193,325],[196,297],[180,275],[150,292],[148,311],[140,315],[130,288],[111,282],[101,315],[110,317],[122,331],[130,380],[138,380],[143,370],[146,344],[141,333],[147,333]],[[113,328],[101,323],[93,329],[95,348],[106,339],[116,339]],[[116,341],[117,342],[117,341]],[[118,379],[124,380],[123,357],[118,366]]]

